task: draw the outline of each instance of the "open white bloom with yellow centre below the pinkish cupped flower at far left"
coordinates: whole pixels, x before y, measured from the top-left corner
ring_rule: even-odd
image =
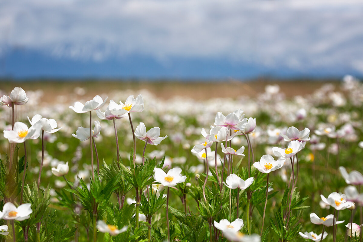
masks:
[[[4,137],[10,143],[23,143],[27,139],[37,139],[40,136],[40,130],[40,124],[28,128],[25,123],[15,122],[13,130],[4,130]]]

